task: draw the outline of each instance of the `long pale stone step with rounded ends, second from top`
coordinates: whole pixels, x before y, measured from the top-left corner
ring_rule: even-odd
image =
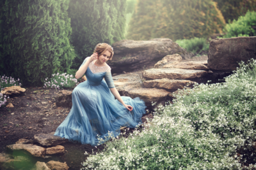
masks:
[[[142,76],[148,80],[161,79],[161,78],[170,78],[176,80],[186,80],[193,78],[201,78],[207,74],[207,71],[204,70],[194,70],[194,69],[148,69],[143,71]]]

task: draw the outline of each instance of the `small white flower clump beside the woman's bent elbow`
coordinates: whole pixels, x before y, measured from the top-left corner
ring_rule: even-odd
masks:
[[[52,74],[52,78],[45,78],[44,88],[50,87],[60,89],[63,87],[73,88],[77,85],[77,79],[73,75],[67,73]]]

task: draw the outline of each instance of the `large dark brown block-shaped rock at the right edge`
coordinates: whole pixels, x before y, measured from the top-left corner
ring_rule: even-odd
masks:
[[[208,53],[208,67],[212,70],[234,71],[237,62],[256,59],[256,36],[212,39]]]

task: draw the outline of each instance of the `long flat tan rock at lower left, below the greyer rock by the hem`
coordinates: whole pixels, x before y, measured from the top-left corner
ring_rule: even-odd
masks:
[[[26,150],[35,157],[44,157],[46,151],[45,148],[33,144],[13,144],[6,147],[10,150]]]

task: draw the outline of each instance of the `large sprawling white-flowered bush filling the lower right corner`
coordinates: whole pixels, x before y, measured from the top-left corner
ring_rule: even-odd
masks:
[[[244,166],[248,157],[256,162],[255,68],[253,59],[241,62],[225,83],[180,90],[143,131],[108,141],[83,169],[255,169]]]

